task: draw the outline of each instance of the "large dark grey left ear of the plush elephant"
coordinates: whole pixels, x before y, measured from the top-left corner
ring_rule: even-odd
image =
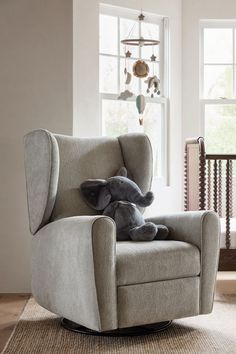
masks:
[[[81,183],[80,191],[86,203],[95,210],[103,210],[110,203],[111,194],[106,180],[88,179]]]

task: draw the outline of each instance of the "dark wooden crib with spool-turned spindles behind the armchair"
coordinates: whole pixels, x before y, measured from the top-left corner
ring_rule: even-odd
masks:
[[[208,209],[219,214],[222,228],[219,270],[236,270],[236,227],[232,228],[232,222],[236,226],[233,203],[235,160],[236,155],[206,154],[202,137],[186,140],[184,210]]]

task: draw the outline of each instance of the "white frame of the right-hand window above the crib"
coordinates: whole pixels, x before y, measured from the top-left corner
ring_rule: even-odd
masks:
[[[233,67],[233,95],[235,98],[205,98],[204,97],[204,29],[231,28],[233,30],[232,64],[216,63],[212,65],[232,65]],[[200,51],[199,51],[199,100],[200,100],[200,131],[205,136],[205,107],[206,105],[236,105],[236,20],[201,20],[200,21]],[[206,65],[211,65],[207,63]]]

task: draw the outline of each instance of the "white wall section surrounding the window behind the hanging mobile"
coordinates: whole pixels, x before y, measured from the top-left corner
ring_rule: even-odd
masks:
[[[96,136],[99,124],[99,0],[74,1],[74,134]],[[181,0],[104,0],[102,3],[157,13],[170,20],[170,186],[153,184],[155,203],[148,215],[182,208]],[[81,36],[81,34],[83,35]],[[92,44],[92,45],[91,45]],[[92,104],[91,104],[92,100]],[[101,133],[101,131],[100,131]]]

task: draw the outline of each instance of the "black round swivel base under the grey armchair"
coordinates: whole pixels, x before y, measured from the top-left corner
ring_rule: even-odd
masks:
[[[66,318],[63,318],[61,320],[62,327],[70,331],[81,333],[81,334],[87,334],[91,336],[107,336],[107,337],[133,337],[133,336],[141,336],[146,334],[153,334],[153,333],[164,331],[165,329],[169,328],[171,323],[172,321],[165,321],[165,322],[158,322],[158,323],[153,323],[153,324],[148,324],[143,326],[118,328],[112,331],[97,332],[89,328],[83,327],[70,320],[67,320]]]

